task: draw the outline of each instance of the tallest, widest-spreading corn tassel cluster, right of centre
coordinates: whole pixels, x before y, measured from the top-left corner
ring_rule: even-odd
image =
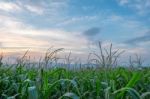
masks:
[[[112,66],[117,66],[117,59],[124,51],[112,50],[112,44],[110,44],[110,48],[102,48],[102,43],[99,42],[99,50],[100,53],[90,53],[89,54],[89,60],[91,62],[95,61],[96,64],[98,64],[102,68],[111,68]],[[95,58],[90,58],[91,56],[94,56]]]

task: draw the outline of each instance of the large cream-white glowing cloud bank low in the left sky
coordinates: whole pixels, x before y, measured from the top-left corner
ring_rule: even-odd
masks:
[[[32,49],[41,52],[53,45],[75,53],[86,48],[87,39],[78,32],[37,29],[11,16],[1,15],[0,22],[3,20],[6,21],[0,27],[0,36],[3,38],[0,42],[3,43],[2,49],[7,49],[8,52],[17,51],[17,49]]]

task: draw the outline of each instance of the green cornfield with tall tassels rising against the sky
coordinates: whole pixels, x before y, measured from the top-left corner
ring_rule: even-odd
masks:
[[[149,99],[150,68],[116,67],[122,51],[112,51],[112,44],[109,51],[99,47],[100,54],[89,57],[97,68],[70,69],[71,53],[65,58],[67,68],[49,68],[63,49],[48,49],[37,68],[26,64],[28,51],[12,66],[4,66],[1,56],[0,99]]]

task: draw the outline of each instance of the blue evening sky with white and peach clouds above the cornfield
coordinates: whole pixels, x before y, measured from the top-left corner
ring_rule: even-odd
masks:
[[[150,58],[150,0],[0,0],[0,51],[40,55],[51,46],[85,58],[98,41]]]

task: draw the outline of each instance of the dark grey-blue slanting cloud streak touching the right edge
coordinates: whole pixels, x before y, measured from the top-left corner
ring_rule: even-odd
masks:
[[[150,41],[150,32],[147,32],[144,36],[130,39],[130,40],[126,41],[126,43],[128,43],[128,44],[139,44],[139,43],[149,42],[149,41]]]

